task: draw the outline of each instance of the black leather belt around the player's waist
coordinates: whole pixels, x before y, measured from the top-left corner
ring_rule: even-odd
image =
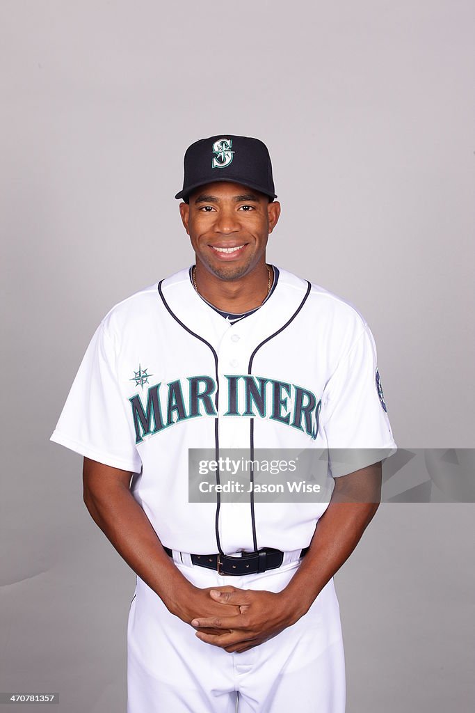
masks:
[[[163,549],[169,557],[173,556],[170,548]],[[308,547],[303,548],[300,556],[305,557],[308,550]],[[243,552],[241,557],[229,555],[190,555],[190,557],[194,565],[215,570],[219,575],[255,575],[266,570],[275,570],[283,562],[283,552],[269,547],[258,552]]]

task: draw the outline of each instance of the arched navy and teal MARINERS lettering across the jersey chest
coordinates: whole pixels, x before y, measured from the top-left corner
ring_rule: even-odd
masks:
[[[187,376],[150,385],[146,394],[134,394],[129,401],[135,443],[181,421],[217,416],[216,390],[212,376]],[[219,384],[219,401],[223,404],[220,418],[270,419],[314,440],[318,436],[321,401],[302,386],[251,374],[224,376]]]

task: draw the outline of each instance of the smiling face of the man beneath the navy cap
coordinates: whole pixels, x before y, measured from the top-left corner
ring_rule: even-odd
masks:
[[[239,279],[265,261],[280,204],[239,183],[200,186],[179,205],[197,261],[219,279]]]

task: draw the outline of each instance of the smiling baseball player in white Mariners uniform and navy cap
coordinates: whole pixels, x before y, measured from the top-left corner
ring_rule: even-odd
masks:
[[[370,449],[396,446],[365,319],[266,262],[276,197],[260,140],[189,146],[176,198],[194,264],[105,315],[51,436],[84,456],[85,504],[137,574],[128,713],[345,709],[333,575],[377,509]],[[192,448],[369,455],[329,459],[326,501],[224,501],[219,466],[194,502]]]

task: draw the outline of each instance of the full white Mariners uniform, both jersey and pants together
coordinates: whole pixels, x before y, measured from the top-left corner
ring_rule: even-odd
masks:
[[[395,449],[365,319],[327,290],[275,272],[268,299],[234,324],[195,292],[189,270],[115,305],[51,436],[135,473],[133,495],[198,588],[280,592],[328,503],[189,502],[189,448]],[[330,466],[334,476],[348,472]],[[281,567],[229,578],[189,555],[257,548],[283,550]],[[296,704],[302,713],[344,713],[333,578],[295,625],[241,654],[199,641],[137,578],[127,712],[233,713],[238,699],[240,713],[288,713]]]

